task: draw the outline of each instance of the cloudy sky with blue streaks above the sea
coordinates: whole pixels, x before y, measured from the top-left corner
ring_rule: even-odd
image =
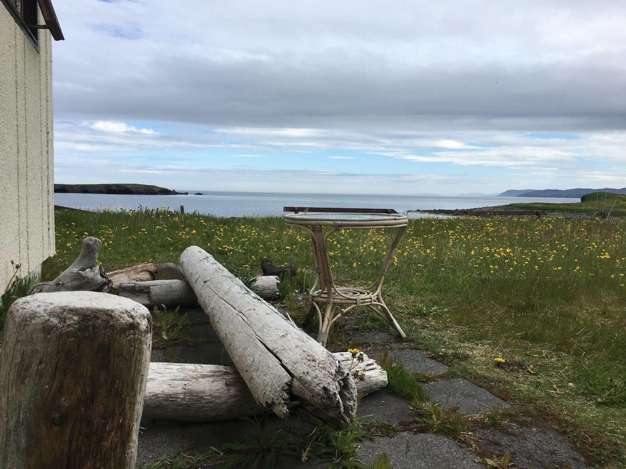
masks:
[[[626,186],[626,2],[62,0],[57,183]]]

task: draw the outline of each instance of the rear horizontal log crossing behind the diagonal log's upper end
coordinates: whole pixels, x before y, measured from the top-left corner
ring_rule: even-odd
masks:
[[[257,277],[254,290],[261,298],[278,295],[277,276]],[[118,285],[118,295],[130,298],[148,308],[154,306],[176,308],[177,306],[198,306],[198,298],[185,280],[152,280],[127,282]]]

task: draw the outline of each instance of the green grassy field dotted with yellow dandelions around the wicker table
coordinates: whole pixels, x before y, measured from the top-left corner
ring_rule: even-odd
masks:
[[[519,413],[555,416],[598,461],[626,463],[626,220],[411,220],[384,287],[409,338],[441,353],[452,375],[510,398]],[[236,275],[267,257],[312,271],[310,241],[282,218],[218,219],[168,211],[56,213],[52,278],[85,236],[103,241],[106,271],[177,261],[190,245]],[[376,277],[391,231],[337,233],[337,276]],[[312,280],[307,274],[306,283]],[[387,330],[376,318],[364,327]],[[498,360],[496,360],[498,359]]]

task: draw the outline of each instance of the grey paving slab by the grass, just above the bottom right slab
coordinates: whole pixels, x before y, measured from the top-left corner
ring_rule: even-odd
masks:
[[[501,408],[511,406],[485,388],[461,378],[424,383],[422,386],[431,396],[431,401],[441,403],[445,409],[458,407],[463,415],[476,415],[498,406]]]

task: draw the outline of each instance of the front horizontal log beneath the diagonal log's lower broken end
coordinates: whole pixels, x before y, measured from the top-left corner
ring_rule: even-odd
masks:
[[[387,372],[364,356],[353,361],[349,352],[333,354],[352,372],[364,373],[355,380],[357,391],[369,394],[387,386]],[[150,363],[143,416],[188,421],[218,421],[240,418],[262,410],[244,379],[232,366]]]

